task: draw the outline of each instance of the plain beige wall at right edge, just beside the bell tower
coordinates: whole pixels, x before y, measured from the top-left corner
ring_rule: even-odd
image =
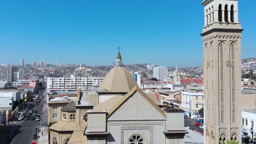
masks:
[[[256,94],[241,94],[243,99],[242,108],[255,108],[256,107]]]

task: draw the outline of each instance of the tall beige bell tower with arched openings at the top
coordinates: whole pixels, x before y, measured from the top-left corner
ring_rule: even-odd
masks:
[[[241,140],[238,0],[203,0],[204,143]]]

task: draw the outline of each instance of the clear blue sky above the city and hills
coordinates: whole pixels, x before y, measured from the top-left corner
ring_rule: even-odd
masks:
[[[1,1],[0,63],[110,65],[120,46],[125,64],[202,65],[201,1]],[[255,4],[239,0],[242,58],[256,57]]]

